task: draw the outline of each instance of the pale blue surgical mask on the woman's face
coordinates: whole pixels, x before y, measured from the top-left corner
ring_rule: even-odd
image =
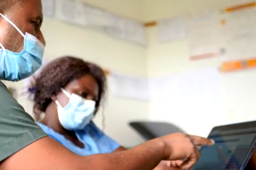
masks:
[[[95,101],[86,100],[74,93],[69,94],[65,89],[62,92],[68,96],[68,104],[64,107],[55,100],[57,104],[58,117],[60,124],[67,130],[82,130],[90,123],[95,111]]]

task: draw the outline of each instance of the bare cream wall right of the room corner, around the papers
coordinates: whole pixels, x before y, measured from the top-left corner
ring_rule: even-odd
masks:
[[[170,18],[188,12],[220,9],[239,0],[143,0],[145,21]],[[240,0],[241,1],[241,0]],[[189,61],[186,40],[158,43],[157,27],[147,29],[150,45],[147,50],[149,76],[171,75],[208,67],[218,67],[220,58]],[[209,112],[193,117],[195,112],[175,110],[170,101],[151,102],[153,120],[171,122],[188,133],[207,135],[212,126],[256,119],[256,70],[238,71],[220,75],[222,116]],[[170,96],[173,98],[173,96]],[[188,103],[182,103],[184,107]],[[211,111],[214,108],[209,108]],[[198,110],[200,104],[198,104]],[[179,114],[178,114],[179,113]],[[217,113],[216,113],[217,115]]]

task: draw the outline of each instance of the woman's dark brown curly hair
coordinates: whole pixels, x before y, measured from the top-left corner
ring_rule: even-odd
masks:
[[[51,97],[57,95],[61,88],[69,82],[79,79],[84,75],[93,76],[99,87],[98,100],[96,101],[95,113],[105,95],[106,76],[103,69],[96,64],[86,62],[83,59],[65,56],[53,60],[46,65],[34,81],[34,113],[44,113],[47,106],[52,102]]]

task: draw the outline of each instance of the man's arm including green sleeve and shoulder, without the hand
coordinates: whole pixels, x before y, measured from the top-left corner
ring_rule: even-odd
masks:
[[[1,82],[0,109],[0,170],[152,170],[164,155],[160,140],[113,154],[76,155],[47,137]]]

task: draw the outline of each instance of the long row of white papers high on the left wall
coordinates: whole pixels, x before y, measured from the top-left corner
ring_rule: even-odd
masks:
[[[56,18],[79,26],[96,26],[108,35],[133,43],[146,45],[142,22],[111,14],[77,0],[56,0]]]

